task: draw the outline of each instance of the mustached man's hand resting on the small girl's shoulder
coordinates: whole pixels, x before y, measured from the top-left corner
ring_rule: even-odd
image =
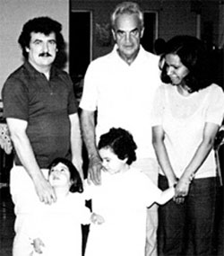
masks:
[[[41,175],[38,179],[35,179],[34,186],[41,202],[49,205],[56,202],[55,190],[44,176]]]

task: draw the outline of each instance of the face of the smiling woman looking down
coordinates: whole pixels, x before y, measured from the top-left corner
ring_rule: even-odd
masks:
[[[167,54],[165,57],[167,74],[174,85],[185,85],[184,78],[189,74],[188,68],[183,65],[177,54]]]

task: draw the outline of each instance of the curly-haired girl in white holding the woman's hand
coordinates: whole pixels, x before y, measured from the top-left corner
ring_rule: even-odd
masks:
[[[132,135],[122,128],[111,128],[99,139],[102,182],[100,186],[87,185],[86,193],[104,223],[90,225],[86,256],[143,256],[146,208],[174,196],[173,188],[162,192],[131,166],[136,160],[135,149]]]

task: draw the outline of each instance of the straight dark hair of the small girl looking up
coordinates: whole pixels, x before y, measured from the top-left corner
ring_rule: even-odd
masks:
[[[70,179],[72,181],[70,192],[82,193],[83,185],[82,185],[82,179],[80,177],[80,173],[77,171],[77,169],[75,168],[75,166],[73,165],[73,163],[70,160],[65,159],[63,157],[57,157],[48,166],[49,173],[50,173],[51,168],[55,167],[58,163],[63,163],[63,164],[65,164],[68,167],[68,170],[70,172]]]

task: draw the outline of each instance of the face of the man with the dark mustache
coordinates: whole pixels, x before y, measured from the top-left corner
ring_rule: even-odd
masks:
[[[41,72],[42,69],[50,67],[56,58],[56,34],[49,35],[31,32],[30,46],[26,49],[28,60],[32,66]]]

